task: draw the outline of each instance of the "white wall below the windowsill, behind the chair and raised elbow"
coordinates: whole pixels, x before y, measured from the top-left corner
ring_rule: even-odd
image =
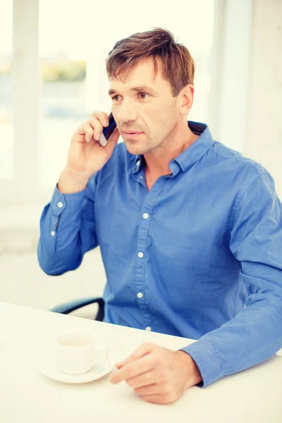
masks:
[[[0,301],[37,309],[51,309],[70,300],[101,297],[106,274],[99,248],[87,252],[75,271],[61,276],[44,274],[35,252],[0,254]],[[96,307],[78,314],[94,317]]]

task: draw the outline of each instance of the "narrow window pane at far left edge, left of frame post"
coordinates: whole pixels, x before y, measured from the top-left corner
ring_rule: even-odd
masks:
[[[11,59],[13,2],[1,0],[0,13],[0,179],[13,178]]]

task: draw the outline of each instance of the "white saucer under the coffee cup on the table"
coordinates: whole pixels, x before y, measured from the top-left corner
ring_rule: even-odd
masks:
[[[114,360],[108,358],[104,364],[93,366],[89,372],[84,374],[66,374],[56,367],[55,362],[44,362],[39,365],[39,372],[54,381],[63,382],[64,384],[85,384],[87,382],[96,381],[105,376],[114,367]]]

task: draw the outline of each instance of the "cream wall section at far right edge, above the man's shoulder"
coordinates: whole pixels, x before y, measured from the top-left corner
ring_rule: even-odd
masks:
[[[247,125],[243,152],[262,163],[282,200],[282,1],[252,11]]]

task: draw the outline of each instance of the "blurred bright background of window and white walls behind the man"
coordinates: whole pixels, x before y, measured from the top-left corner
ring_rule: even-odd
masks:
[[[62,276],[39,268],[39,219],[74,131],[95,109],[109,110],[107,54],[118,39],[159,26],[195,60],[189,119],[263,164],[282,198],[281,0],[178,0],[167,8],[158,0],[138,8],[128,0],[1,0],[0,301],[49,309],[102,295],[99,249]]]

